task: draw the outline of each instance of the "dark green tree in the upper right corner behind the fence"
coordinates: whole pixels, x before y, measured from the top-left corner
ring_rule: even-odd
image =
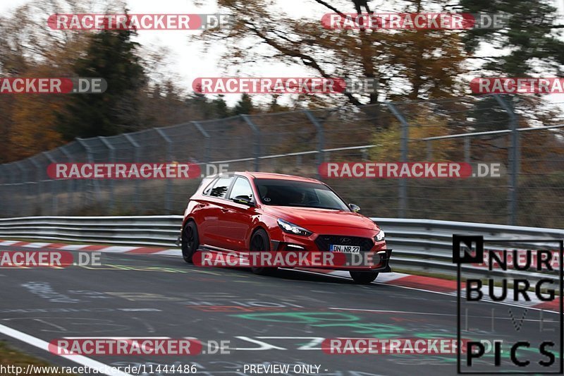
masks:
[[[501,29],[468,30],[462,36],[465,50],[471,56],[474,77],[563,75],[564,25],[559,23],[557,9],[548,1],[460,0],[458,9],[467,13],[503,13],[508,16]],[[518,128],[551,126],[561,119],[562,109],[548,104],[544,95],[504,95],[501,98],[505,107],[499,104],[499,97],[478,96],[470,111],[477,124],[472,131],[511,128],[508,109],[517,116],[515,126]],[[558,130],[521,133],[523,172],[541,171],[546,168],[545,163],[551,164],[551,160],[562,158],[563,142],[558,133]],[[498,138],[494,135],[481,138],[478,150],[497,150],[499,159],[507,159],[508,145],[496,145]]]

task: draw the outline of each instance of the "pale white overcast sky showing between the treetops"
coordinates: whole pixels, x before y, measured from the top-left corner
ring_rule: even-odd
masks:
[[[5,14],[12,11],[17,6],[27,3],[29,0],[1,0],[0,12]],[[564,0],[553,0],[558,7],[558,12],[564,22]],[[193,6],[195,1],[188,0],[127,0],[130,13],[217,13],[218,8],[215,0],[200,1],[205,3],[202,6]],[[312,12],[305,12],[304,0],[283,0],[284,11],[290,16],[302,16],[307,13],[311,16]],[[317,7],[316,7],[317,8]],[[325,8],[322,8],[325,9]],[[375,11],[390,11],[389,9],[375,9]],[[46,25],[47,27],[47,25]],[[158,46],[168,47],[171,51],[169,61],[171,62],[169,71],[176,73],[180,80],[180,85],[186,90],[191,90],[192,80],[197,77],[216,77],[222,75],[219,68],[219,55],[221,49],[214,49],[207,53],[202,51],[199,43],[189,43],[188,36],[194,35],[197,31],[183,30],[140,30],[138,32],[138,42],[149,48]],[[228,72],[228,75],[235,75],[235,71]],[[259,68],[253,68],[252,72],[240,75],[255,75],[266,77],[292,77],[303,76],[305,70],[299,66],[286,66],[285,64],[264,64]],[[264,96],[262,96],[264,97]],[[229,104],[233,104],[240,98],[240,95],[226,95]],[[554,103],[562,103],[564,109],[564,95],[546,95],[546,99]]]

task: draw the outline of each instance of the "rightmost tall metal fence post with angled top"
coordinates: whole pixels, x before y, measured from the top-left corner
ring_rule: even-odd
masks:
[[[513,111],[513,101],[505,102],[499,95],[494,96],[496,101],[507,111],[509,115],[509,125],[511,129],[511,146],[509,154],[509,195],[508,195],[508,217],[509,224],[517,224],[517,189],[519,182],[517,176],[519,174],[520,165],[520,148],[519,148],[519,131],[517,131],[517,114]]]

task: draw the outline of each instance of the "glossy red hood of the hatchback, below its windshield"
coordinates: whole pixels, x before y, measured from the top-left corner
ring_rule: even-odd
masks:
[[[340,226],[357,229],[379,230],[378,226],[367,217],[355,212],[316,209],[313,207],[288,207],[264,205],[264,212],[284,219],[298,226]]]

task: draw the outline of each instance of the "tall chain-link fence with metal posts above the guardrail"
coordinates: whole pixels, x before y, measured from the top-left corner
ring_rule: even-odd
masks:
[[[51,180],[54,162],[228,163],[319,177],[322,162],[496,162],[501,178],[331,178],[373,217],[564,227],[562,125],[515,98],[460,97],[188,121],[78,139],[0,165],[0,214],[181,214],[200,179]],[[561,121],[560,121],[561,122]]]

